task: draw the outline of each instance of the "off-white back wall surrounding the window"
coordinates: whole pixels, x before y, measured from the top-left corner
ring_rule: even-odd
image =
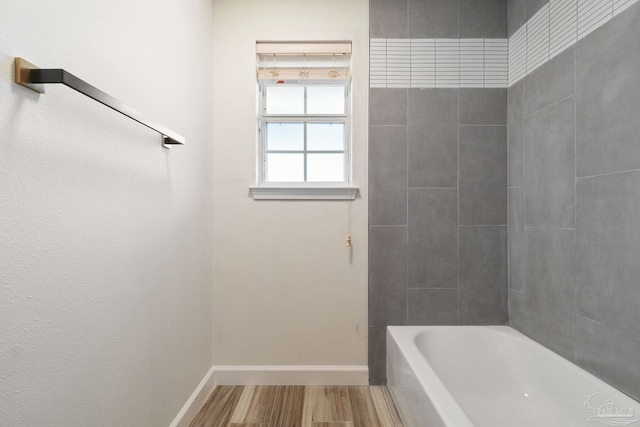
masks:
[[[368,12],[368,0],[214,1],[216,365],[367,364]],[[353,41],[352,250],[346,202],[249,196],[256,40]]]

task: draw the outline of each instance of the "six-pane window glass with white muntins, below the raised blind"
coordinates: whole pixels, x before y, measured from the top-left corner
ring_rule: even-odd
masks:
[[[346,182],[347,99],[345,84],[265,84],[260,124],[263,182]]]

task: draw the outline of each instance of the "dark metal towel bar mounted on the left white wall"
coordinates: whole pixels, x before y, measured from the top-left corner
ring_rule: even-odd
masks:
[[[62,83],[63,85],[68,86],[71,89],[74,89],[83,95],[116,110],[120,114],[124,114],[136,122],[162,134],[162,145],[166,148],[169,148],[171,145],[182,145],[185,143],[183,136],[178,135],[158,123],[150,121],[133,108],[128,107],[114,97],[104,93],[100,89],[77,78],[63,69],[41,69],[22,58],[15,58],[15,81],[16,83],[38,93],[44,93],[43,85],[45,84]]]

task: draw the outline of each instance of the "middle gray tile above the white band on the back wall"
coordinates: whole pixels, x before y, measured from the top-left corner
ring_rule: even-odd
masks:
[[[409,37],[458,37],[458,2],[408,0]]]

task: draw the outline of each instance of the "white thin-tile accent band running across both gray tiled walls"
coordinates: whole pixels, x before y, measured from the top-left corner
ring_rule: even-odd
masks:
[[[508,39],[370,39],[370,88],[506,88],[638,0],[551,0]]]

